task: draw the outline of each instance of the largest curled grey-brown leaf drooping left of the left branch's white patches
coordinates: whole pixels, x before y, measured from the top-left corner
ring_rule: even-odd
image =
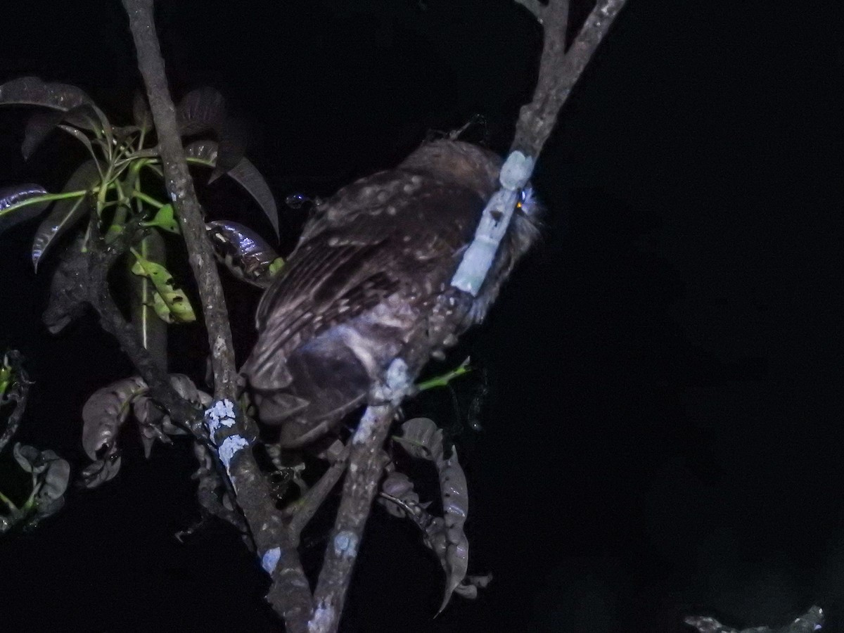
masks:
[[[132,401],[146,390],[146,383],[132,376],[91,394],[82,408],[82,446],[88,457],[95,460],[103,446],[108,450],[115,446],[117,432],[127,419]]]

